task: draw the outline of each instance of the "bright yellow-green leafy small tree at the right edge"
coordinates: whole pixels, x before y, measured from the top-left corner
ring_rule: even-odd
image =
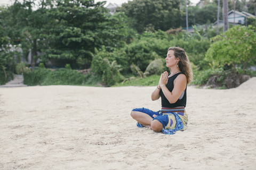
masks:
[[[226,31],[223,36],[216,36],[212,40],[214,43],[207,50],[207,60],[222,65],[232,63],[234,72],[236,64],[243,63],[245,70],[247,63],[256,58],[256,28],[251,25],[237,25]]]

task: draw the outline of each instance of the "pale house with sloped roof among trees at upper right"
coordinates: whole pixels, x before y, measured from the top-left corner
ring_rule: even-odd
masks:
[[[247,18],[249,17],[254,17],[254,15],[247,13],[247,12],[238,12],[231,10],[228,12],[228,22],[229,23],[234,23],[234,18],[235,18],[235,24],[242,24],[246,25]]]

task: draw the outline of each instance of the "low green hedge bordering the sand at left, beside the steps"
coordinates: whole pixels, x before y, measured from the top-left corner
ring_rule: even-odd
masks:
[[[29,86],[48,85],[82,85],[87,77],[75,70],[38,68],[34,72],[23,73],[24,84]]]

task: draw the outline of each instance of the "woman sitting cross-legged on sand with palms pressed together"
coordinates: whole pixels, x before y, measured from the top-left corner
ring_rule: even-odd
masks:
[[[180,47],[170,47],[165,60],[171,74],[168,75],[167,71],[162,73],[157,88],[151,94],[153,101],[161,97],[161,111],[135,108],[131,116],[140,128],[147,126],[155,132],[174,134],[175,131],[187,129],[187,84],[193,79],[193,73],[188,56]]]

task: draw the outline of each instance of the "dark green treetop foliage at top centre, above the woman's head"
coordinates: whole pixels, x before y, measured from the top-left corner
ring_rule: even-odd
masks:
[[[180,27],[181,11],[177,0],[137,0],[122,4],[117,11],[124,12],[133,21],[138,32],[168,30]]]

